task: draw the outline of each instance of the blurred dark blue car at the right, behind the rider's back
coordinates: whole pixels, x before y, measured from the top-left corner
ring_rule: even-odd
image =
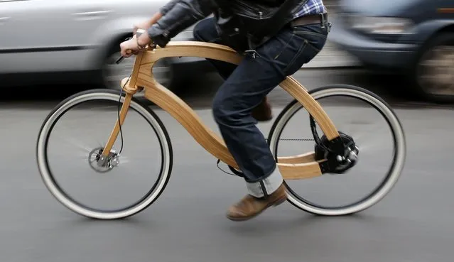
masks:
[[[425,99],[454,102],[454,0],[341,0],[337,9],[331,42],[409,77]]]

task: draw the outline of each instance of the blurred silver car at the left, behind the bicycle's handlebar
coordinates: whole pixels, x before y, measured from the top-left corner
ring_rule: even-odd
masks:
[[[106,87],[119,88],[134,62],[133,57],[114,63],[120,56],[119,43],[131,36],[134,23],[151,18],[167,1],[0,0],[0,74],[50,72],[53,78],[58,72],[69,72],[77,73],[81,81],[99,80]],[[191,27],[173,40],[192,38]],[[178,80],[175,65],[199,61],[163,59],[153,73],[159,82],[171,86]]]

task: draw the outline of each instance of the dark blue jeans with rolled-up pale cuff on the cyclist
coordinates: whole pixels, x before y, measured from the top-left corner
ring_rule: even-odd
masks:
[[[279,168],[251,112],[272,89],[293,75],[323,48],[328,31],[321,24],[287,26],[233,65],[208,59],[225,79],[213,101],[213,115],[222,138],[244,174],[250,195],[266,197],[282,184]],[[196,40],[222,44],[214,18],[194,28]]]

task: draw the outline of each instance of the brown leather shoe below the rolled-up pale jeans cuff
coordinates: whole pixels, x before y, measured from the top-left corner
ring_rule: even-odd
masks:
[[[237,204],[229,208],[227,218],[233,221],[252,219],[261,212],[264,212],[265,209],[282,204],[286,199],[287,195],[283,184],[268,197],[257,198],[247,195]]]

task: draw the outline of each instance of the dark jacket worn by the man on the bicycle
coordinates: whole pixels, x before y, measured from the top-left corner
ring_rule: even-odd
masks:
[[[285,3],[285,4],[283,4]],[[148,29],[156,45],[165,47],[174,36],[214,14],[220,37],[242,52],[266,42],[292,20],[291,11],[304,0],[171,0],[163,17]]]

